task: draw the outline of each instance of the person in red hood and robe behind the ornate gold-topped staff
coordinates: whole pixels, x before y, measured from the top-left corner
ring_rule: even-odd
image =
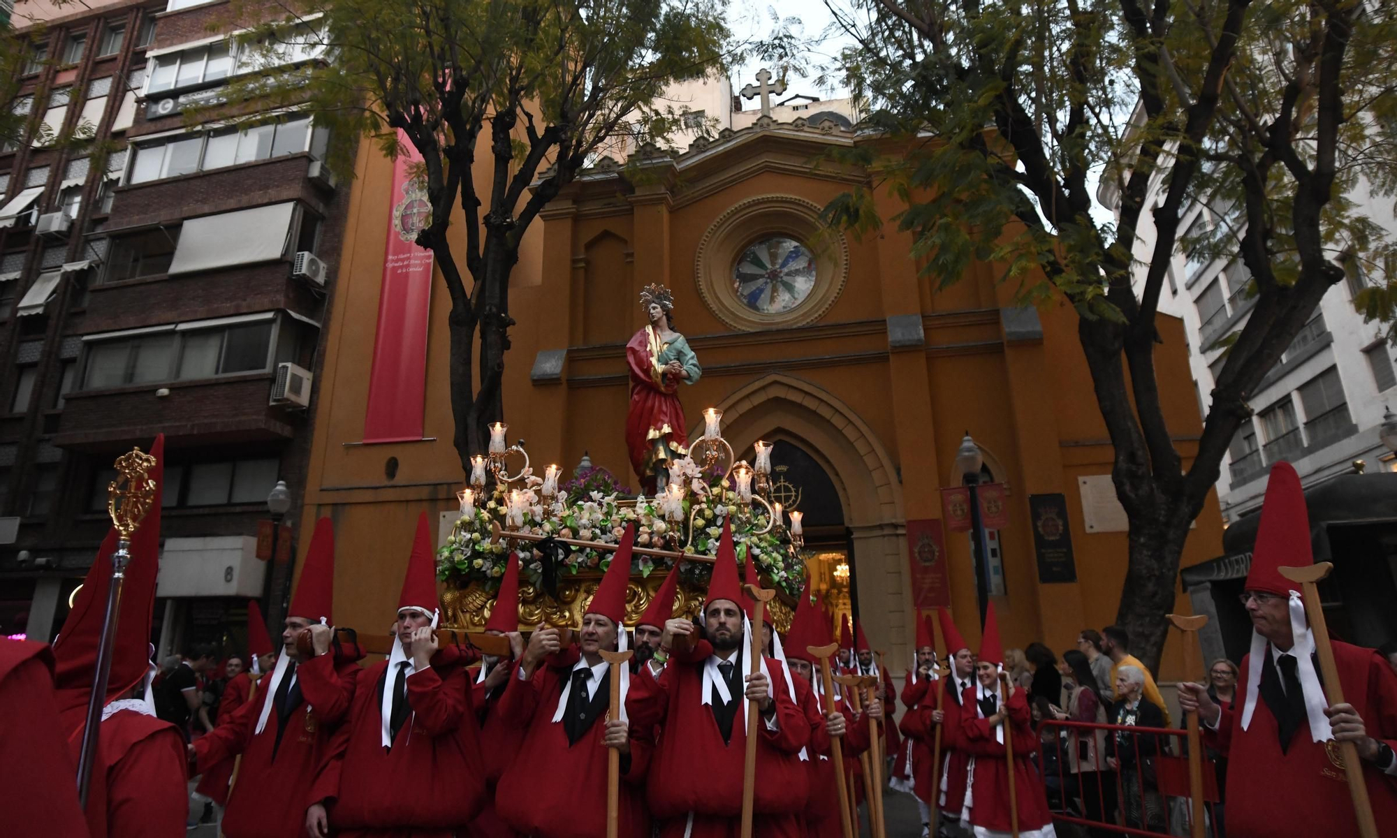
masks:
[[[131,559],[122,585],[102,729],[88,785],[88,830],[92,835],[108,838],[180,835],[189,809],[184,736],[175,725],[156,719],[151,704],[149,680],[154,666],[149,637],[155,578],[159,573],[163,434],[155,437],[151,457],[155,458],[155,468],[148,478],[155,482],[155,497],[131,536]],[[73,603],[73,612],[53,644],[59,715],[74,767],[82,749],[116,545],[113,528],[98,549],[96,560]],[[142,686],[144,697],[134,697]]]

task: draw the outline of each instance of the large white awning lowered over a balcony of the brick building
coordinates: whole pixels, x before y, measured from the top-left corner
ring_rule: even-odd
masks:
[[[191,218],[179,232],[169,274],[272,261],[286,253],[296,204],[271,204]]]

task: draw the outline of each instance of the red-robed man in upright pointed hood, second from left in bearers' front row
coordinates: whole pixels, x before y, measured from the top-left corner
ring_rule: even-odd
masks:
[[[450,838],[481,810],[485,770],[465,673],[471,656],[439,648],[440,613],[436,556],[422,513],[398,596],[393,651],[387,661],[348,673],[353,707],[310,791],[312,834],[324,834],[324,811],[341,838]]]

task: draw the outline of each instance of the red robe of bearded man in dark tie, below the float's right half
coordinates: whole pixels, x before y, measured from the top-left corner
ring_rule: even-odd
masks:
[[[661,728],[651,760],[650,814],[659,823],[661,838],[726,838],[736,835],[742,816],[742,772],[746,754],[746,719],[739,707],[732,737],[725,744],[712,708],[703,704],[704,663],[669,665],[654,677],[643,666],[630,679],[626,712],[631,728]],[[763,838],[799,838],[800,811],[806,799],[806,772],[796,756],[810,737],[805,714],[791,701],[782,668],[767,659],[777,729],[759,718],[757,729],[757,817],[753,832]],[[739,689],[742,689],[739,686]],[[733,696],[740,701],[740,696]]]

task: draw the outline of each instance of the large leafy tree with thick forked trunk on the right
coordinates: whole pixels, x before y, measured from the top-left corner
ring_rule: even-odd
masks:
[[[869,127],[914,151],[834,201],[859,230],[895,221],[939,286],[972,261],[1003,268],[1024,302],[1067,299],[1115,447],[1130,521],[1118,622],[1158,666],[1164,615],[1190,522],[1218,479],[1248,399],[1344,261],[1376,277],[1361,306],[1390,320],[1387,232],[1348,196],[1397,186],[1397,27],[1356,0],[827,0],[851,36],[838,73]],[[876,148],[855,152],[873,163]],[[1119,194],[1094,215],[1095,180]],[[1157,203],[1155,203],[1157,201]],[[1193,204],[1210,232],[1180,232]],[[1099,207],[1095,207],[1099,214]],[[1386,210],[1384,210],[1386,211]],[[1153,236],[1153,240],[1151,237]],[[1227,360],[1192,462],[1165,425],[1154,369],[1158,303],[1182,244],[1236,256],[1250,314]]]

